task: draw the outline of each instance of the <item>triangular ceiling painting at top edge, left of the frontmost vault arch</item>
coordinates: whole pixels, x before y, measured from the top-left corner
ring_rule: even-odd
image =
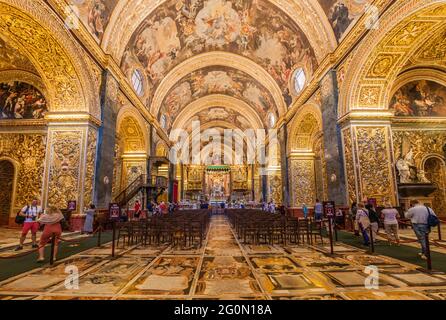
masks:
[[[71,0],[71,4],[78,8],[80,19],[87,26],[91,34],[100,42],[118,1],[84,0],[79,3],[79,1]]]

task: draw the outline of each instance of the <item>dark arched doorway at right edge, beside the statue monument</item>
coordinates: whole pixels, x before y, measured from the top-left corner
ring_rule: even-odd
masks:
[[[445,180],[445,164],[437,158],[432,157],[426,160],[424,164],[426,178],[431,181],[437,190],[432,194],[434,197],[433,208],[438,215],[446,214],[446,180]]]

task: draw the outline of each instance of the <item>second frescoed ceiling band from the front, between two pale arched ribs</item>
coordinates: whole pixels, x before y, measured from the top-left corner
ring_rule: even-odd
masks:
[[[264,123],[269,113],[277,114],[271,94],[256,80],[240,70],[212,66],[190,73],[172,87],[158,117],[165,115],[169,129],[184,107],[210,94],[226,94],[246,102]]]

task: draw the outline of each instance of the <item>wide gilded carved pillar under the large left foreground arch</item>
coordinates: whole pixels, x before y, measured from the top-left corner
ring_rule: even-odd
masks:
[[[43,206],[83,213],[92,201],[96,169],[98,121],[88,114],[48,113],[48,142]]]

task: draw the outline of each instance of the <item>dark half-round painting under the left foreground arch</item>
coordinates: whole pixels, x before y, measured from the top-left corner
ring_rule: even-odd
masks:
[[[0,83],[0,120],[42,119],[48,111],[43,94],[30,84]]]

